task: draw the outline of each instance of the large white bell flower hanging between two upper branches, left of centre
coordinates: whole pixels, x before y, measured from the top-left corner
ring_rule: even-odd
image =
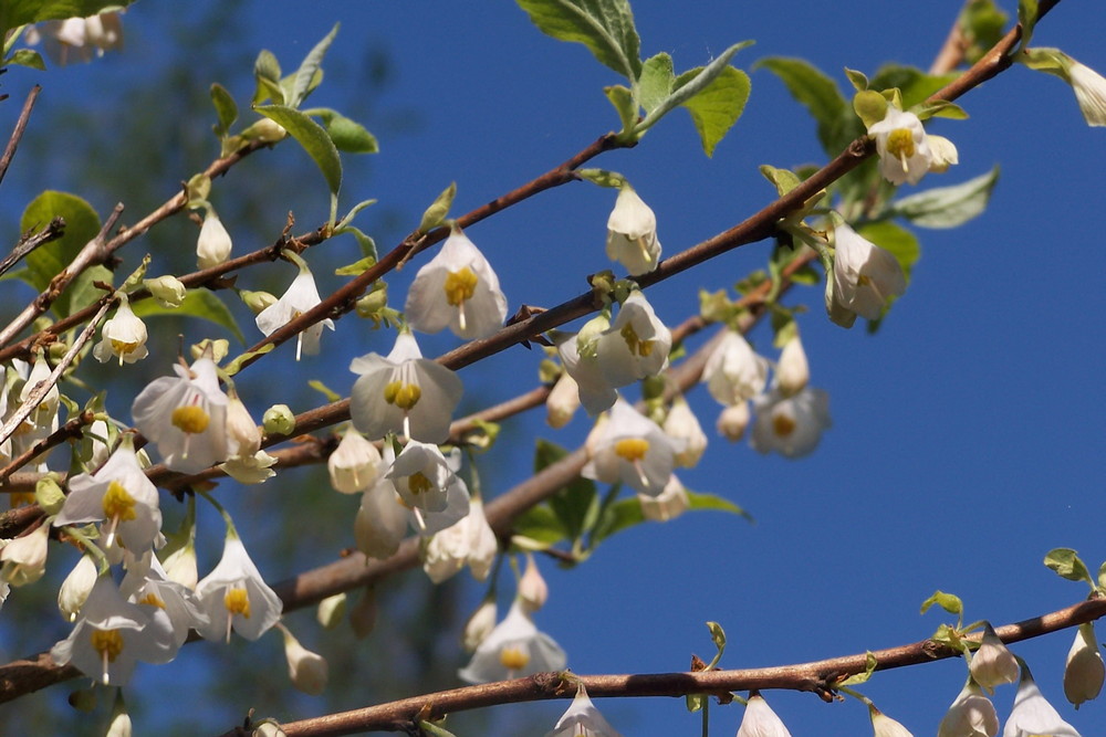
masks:
[[[449,327],[460,338],[484,338],[503,325],[507,297],[488,260],[453,225],[438,255],[415,275],[404,312],[422,333]]]

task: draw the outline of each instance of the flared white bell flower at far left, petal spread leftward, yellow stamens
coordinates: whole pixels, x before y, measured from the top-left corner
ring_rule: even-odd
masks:
[[[94,474],[82,473],[69,482],[70,493],[55,526],[101,522],[105,547],[118,537],[124,548],[140,556],[161,530],[157,487],[143,473],[131,435]]]

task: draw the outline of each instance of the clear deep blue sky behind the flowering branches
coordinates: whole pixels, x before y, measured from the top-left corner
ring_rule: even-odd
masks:
[[[165,13],[150,12],[147,4],[139,2],[127,13],[129,45],[122,55],[52,71],[48,78],[91,85],[102,91],[104,104],[125,104],[135,69],[156,61],[164,33],[158,22]],[[450,181],[458,183],[455,212],[468,211],[616,124],[602,87],[619,80],[583,46],[542,35],[513,3],[250,7],[253,21],[241,44],[251,53],[274,51],[285,67],[335,20],[343,27],[332,59],[344,59],[348,66],[368,48],[390,54],[393,84],[372,103],[379,117],[366,120],[380,135],[382,152],[373,158],[371,175],[368,166],[352,165],[344,189],[347,203],[375,197],[407,213],[401,229],[382,236],[382,248],[409,230]],[[755,39],[735,65],[749,69],[763,56],[799,55],[844,87],[844,66],[869,73],[890,61],[927,67],[959,7],[951,0],[833,7],[711,0],[640,1],[635,11],[643,54],[667,51],[677,70]],[[182,4],[178,12],[195,11]],[[1106,15],[1097,3],[1067,0],[1042,22],[1035,43],[1061,46],[1106,71],[1104,34]],[[13,76],[4,81],[9,92],[15,88],[9,81]],[[349,84],[355,78],[334,75],[312,102],[351,107],[363,94]],[[654,208],[666,254],[768,203],[772,192],[758,165],[824,161],[813,122],[783,85],[764,71],[752,72],[752,82],[744,116],[712,159],[702,155],[690,120],[678,112],[637,149],[596,161],[625,173]],[[239,97],[247,93],[236,92]],[[834,427],[817,451],[790,462],[760,456],[744,443],[728,444],[712,432],[714,402],[702,390],[689,397],[711,430],[711,444],[703,462],[681,478],[744,506],[757,524],[687,515],[619,535],[575,570],[543,568],[551,597],[538,622],[568,651],[574,671],[686,670],[692,652],[710,657],[708,620],[720,622],[729,635],[722,665],[745,667],[924,639],[942,619],[933,612],[919,617],[918,607],[938,588],[963,597],[969,621],[985,618],[997,624],[1084,596],[1041,559],[1057,546],[1078,549],[1093,568],[1106,558],[1100,322],[1106,280],[1098,267],[1106,134],[1085,126],[1067,86],[1024,69],[987,83],[962,104],[971,119],[935,126],[957,144],[960,165],[915,189],[963,181],[1000,164],[1002,178],[987,213],[953,231],[919,231],[924,255],[914,281],[875,337],[863,326],[846,331],[832,325],[820,289],[791,298],[811,306],[801,328],[813,383],[831,397]],[[12,107],[9,103],[6,116],[14,114]],[[411,113],[414,129],[389,136],[384,122]],[[209,120],[209,110],[197,110],[194,127]],[[236,171],[217,185],[228,208],[240,176],[249,175]],[[29,186],[64,189],[58,181]],[[322,181],[282,182],[278,172],[274,197],[293,186],[317,189],[317,209],[298,212],[300,222],[321,221],[326,208]],[[13,191],[7,197],[14,198]],[[102,197],[112,201],[111,193]],[[512,310],[521,302],[559,303],[582,291],[585,274],[608,267],[603,239],[613,200],[609,191],[574,185],[469,230],[498,270]],[[363,227],[373,234],[386,231],[374,218],[379,215],[366,212]],[[762,267],[768,253],[766,243],[745,246],[650,288],[648,296],[662,318],[679,323],[697,310],[698,288],[732,286]],[[397,304],[413,272],[393,283]],[[333,276],[320,278],[324,286],[338,283]],[[390,338],[357,328],[343,320],[338,339],[324,335],[326,352],[306,361],[307,378],[325,377],[347,392],[354,377],[332,368],[344,368],[348,356],[390,346]],[[751,338],[772,354],[765,328]],[[437,355],[455,345],[447,336],[425,341],[424,349]],[[168,357],[154,360],[167,370]],[[492,402],[533,386],[536,362],[536,355],[512,349],[461,377],[471,397]],[[264,406],[251,409],[260,413]],[[536,415],[515,420],[507,440],[541,432],[575,446],[586,432],[582,418],[557,433],[542,428]],[[531,449],[522,443],[495,449],[486,460],[486,474],[495,484],[487,493],[494,496],[521,481],[530,463]],[[289,491],[278,477],[264,493],[275,499]],[[345,522],[335,524],[348,536]],[[272,580],[295,572],[263,570]],[[479,593],[473,586],[473,604]],[[1076,713],[1064,702],[1061,676],[1073,634],[1020,644],[1015,652],[1029,661],[1045,695],[1088,737],[1102,734],[1106,719],[1102,704]],[[963,676],[961,663],[942,662],[878,674],[864,692],[916,735],[927,735],[936,731]],[[1009,713],[1013,692],[1012,686],[999,691],[1000,715]],[[796,736],[868,731],[866,709],[852,701],[826,705],[810,694],[774,692],[768,698]],[[689,715],[682,701],[606,701],[601,708],[627,736],[698,734],[699,717]],[[561,705],[503,710],[500,734],[542,734]],[[307,710],[295,716],[312,715],[309,702]],[[716,708],[712,717],[712,734],[732,734],[741,708]],[[156,729],[148,718],[143,726]]]

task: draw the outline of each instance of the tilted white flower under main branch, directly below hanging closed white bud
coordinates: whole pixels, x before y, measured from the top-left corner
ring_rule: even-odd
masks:
[[[660,373],[668,366],[672,334],[657,319],[653,306],[634,289],[611,327],[596,339],[596,360],[612,387],[625,387]]]

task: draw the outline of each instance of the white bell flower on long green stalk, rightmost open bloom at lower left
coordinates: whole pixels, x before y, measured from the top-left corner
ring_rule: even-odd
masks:
[[[261,578],[238,535],[228,534],[222,559],[196,585],[196,596],[208,621],[197,624],[206,640],[226,638],[230,630],[257,640],[280,619],[283,604]]]

